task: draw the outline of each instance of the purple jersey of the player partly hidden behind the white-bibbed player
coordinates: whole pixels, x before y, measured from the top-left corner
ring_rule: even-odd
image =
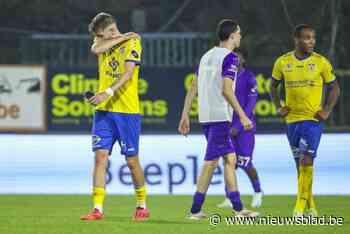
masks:
[[[253,131],[255,132],[256,123],[254,108],[258,97],[258,91],[255,75],[251,71],[247,69],[239,71],[236,79],[235,95],[245,114],[253,122]],[[237,128],[239,131],[243,129],[237,113],[233,114],[232,127]]]

